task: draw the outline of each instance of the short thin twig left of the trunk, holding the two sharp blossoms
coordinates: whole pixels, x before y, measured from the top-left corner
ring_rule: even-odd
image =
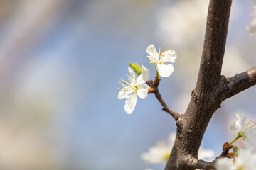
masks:
[[[159,89],[158,89],[158,85],[161,79],[159,79],[159,77],[156,77],[154,84],[153,81],[147,81],[146,83],[149,84],[149,93],[154,93],[157,100],[161,103],[161,106],[163,106],[162,110],[166,111],[167,113],[169,113],[174,120],[178,120],[178,118],[181,117],[181,115],[179,113],[177,113],[176,111],[173,111],[171,108],[169,108],[166,103],[164,102],[163,98],[161,98],[161,94],[159,93]]]

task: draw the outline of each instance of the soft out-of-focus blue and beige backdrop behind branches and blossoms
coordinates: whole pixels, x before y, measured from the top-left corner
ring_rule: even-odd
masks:
[[[176,131],[154,95],[131,115],[118,100],[129,62],[144,64],[146,47],[176,50],[159,91],[184,113],[196,84],[206,27],[206,0],[1,0],[0,169],[164,169],[141,154]],[[234,0],[223,74],[255,67],[256,37],[247,35],[250,1]],[[256,120],[256,87],[224,101],[203,147],[220,154],[233,140],[235,111]]]

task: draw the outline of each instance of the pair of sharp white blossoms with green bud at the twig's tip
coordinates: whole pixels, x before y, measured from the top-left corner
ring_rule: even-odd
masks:
[[[161,47],[159,52],[156,52],[156,47],[154,45],[149,45],[146,48],[146,52],[148,53],[149,63],[155,64],[156,69],[156,77],[169,77],[172,72],[174,72],[174,66],[172,64],[167,64],[168,62],[175,62],[176,60],[176,52],[174,50],[166,50],[161,52]],[[139,98],[145,99],[148,91],[149,86],[146,85],[146,81],[149,80],[150,72],[149,69],[146,69],[144,65],[142,67],[139,64],[130,64],[132,67],[128,67],[128,72],[130,75],[127,74],[127,81],[120,79],[119,84],[121,84],[122,89],[120,89],[119,94],[117,96],[118,99],[126,98],[124,111],[127,114],[131,114],[134,111],[134,108],[137,103],[137,96]],[[138,74],[138,78],[136,77],[135,73]]]

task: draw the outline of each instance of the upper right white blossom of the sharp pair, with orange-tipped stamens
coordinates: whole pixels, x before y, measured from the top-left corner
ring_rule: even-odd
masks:
[[[156,63],[156,69],[161,77],[169,77],[174,72],[174,66],[172,64],[166,64],[166,62],[175,62],[177,57],[174,50],[164,50],[164,52],[156,52],[154,45],[149,45],[146,48],[146,52],[149,54],[150,63]]]

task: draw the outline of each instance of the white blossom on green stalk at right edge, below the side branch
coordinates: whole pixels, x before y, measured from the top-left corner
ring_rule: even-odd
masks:
[[[238,111],[235,122],[230,126],[230,130],[238,132],[238,135],[244,140],[245,147],[255,149],[256,123],[252,120],[245,122],[245,120],[245,113]]]

